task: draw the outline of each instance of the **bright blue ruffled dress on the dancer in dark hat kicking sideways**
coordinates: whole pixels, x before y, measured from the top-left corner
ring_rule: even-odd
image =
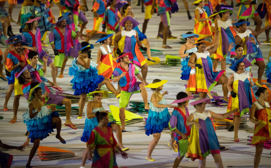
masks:
[[[98,75],[98,70],[92,64],[89,69],[86,69],[76,63],[77,59],[72,61],[72,67],[69,68],[70,76],[74,76],[70,82],[73,83],[72,89],[75,90],[73,94],[75,96],[95,91],[104,79],[102,75]]]

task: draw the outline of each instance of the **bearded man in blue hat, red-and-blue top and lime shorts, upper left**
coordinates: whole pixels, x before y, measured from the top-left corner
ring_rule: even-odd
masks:
[[[67,15],[59,17],[56,23],[57,27],[52,30],[48,38],[48,42],[51,44],[55,54],[56,74],[58,73],[58,68],[61,67],[60,78],[63,77],[68,56],[76,58],[79,55],[78,50],[71,47],[71,39],[78,39],[80,32],[75,33],[71,28],[67,27],[71,23],[73,22]]]

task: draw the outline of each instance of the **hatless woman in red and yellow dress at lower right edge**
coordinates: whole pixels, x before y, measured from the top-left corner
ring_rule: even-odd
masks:
[[[268,141],[271,137],[271,123],[270,120],[268,120],[271,117],[271,109],[269,103],[265,102],[269,96],[266,88],[260,87],[255,95],[258,97],[258,100],[251,106],[249,119],[255,124],[251,144],[256,146],[254,168],[258,168],[263,143]]]

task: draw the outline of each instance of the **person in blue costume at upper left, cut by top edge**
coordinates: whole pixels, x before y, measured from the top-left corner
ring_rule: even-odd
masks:
[[[40,29],[41,32],[41,39],[46,31],[52,31],[54,28],[54,25],[49,22],[47,18],[47,13],[50,11],[50,9],[54,6],[54,2],[50,4],[50,6],[46,9],[45,4],[42,4],[41,0],[31,0],[34,2],[34,5],[31,6],[30,8],[30,13],[32,16],[35,18],[41,17],[38,23],[38,28]]]

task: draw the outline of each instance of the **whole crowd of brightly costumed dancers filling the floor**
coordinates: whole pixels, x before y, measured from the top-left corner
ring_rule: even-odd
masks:
[[[28,132],[22,146],[27,147],[32,142],[33,147],[26,167],[31,167],[31,160],[40,141],[49,136],[53,129],[57,129],[56,138],[61,143],[66,143],[60,134],[62,121],[56,112],[56,106],[65,105],[64,125],[77,129],[71,121],[71,101],[54,92],[54,90],[63,92],[57,83],[57,75],[60,67],[61,72],[58,77],[64,77],[63,72],[68,57],[73,58],[72,66],[69,67],[69,75],[73,76],[70,81],[73,85],[72,89],[75,96],[80,96],[78,119],[83,117],[87,95],[93,96],[93,100],[87,104],[85,127],[81,137],[81,141],[86,142],[87,146],[81,168],[85,166],[87,159],[92,160],[92,167],[117,167],[114,148],[118,149],[124,159],[127,158],[125,151],[129,148],[124,147],[122,143],[122,133],[126,132],[125,108],[130,97],[135,93],[141,93],[145,105],[144,111],[149,113],[145,126],[146,135],[153,135],[146,155],[147,160],[155,161],[152,152],[159,142],[163,129],[169,128],[172,134],[168,145],[178,152],[173,167],[178,167],[185,155],[192,160],[198,158],[199,167],[205,167],[206,157],[209,154],[213,155],[217,167],[223,167],[220,145],[212,119],[225,119],[234,115],[233,126],[228,131],[234,131],[234,142],[239,142],[240,117],[250,112],[249,119],[255,124],[252,138],[252,144],[256,145],[254,167],[258,167],[263,143],[271,136],[271,130],[269,130],[271,123],[268,120],[271,117],[271,109],[269,103],[265,102],[268,92],[261,82],[265,64],[257,42],[257,35],[271,26],[267,25],[262,29],[258,27],[260,23],[257,22],[258,15],[253,7],[254,1],[241,1],[237,16],[240,20],[237,23],[229,19],[233,13],[232,9],[229,7],[222,9],[221,2],[220,4],[216,2],[214,7],[212,7],[214,2],[197,0],[193,3],[196,6],[194,32],[182,35],[186,43],[179,51],[182,61],[180,78],[187,80],[187,87],[185,92],[177,94],[176,100],[172,103],[177,106],[166,103],[163,96],[169,94],[167,91],[161,93],[167,80],[155,79],[150,84],[146,81],[147,61],[155,62],[155,60],[151,57],[150,44],[144,34],[147,29],[146,24],[152,18],[156,7],[161,17],[157,38],[163,38],[163,48],[171,48],[167,45],[167,39],[175,38],[170,31],[170,9],[174,6],[174,0],[145,2],[144,33],[139,30],[140,23],[134,19],[129,1],[116,3],[115,0],[106,2],[95,0],[92,9],[93,30],[87,35],[82,33],[88,21],[80,10],[79,1],[54,1],[60,9],[61,17],[58,21],[54,20],[50,11],[54,3],[31,1],[32,3],[29,2],[28,6],[23,6],[28,10],[23,10],[24,15],[21,21],[25,22],[21,28],[22,35],[11,35],[5,40],[8,48],[3,54],[3,65],[5,65],[7,78],[2,69],[0,74],[2,79],[7,79],[9,83],[4,111],[9,110],[8,101],[15,91],[14,117],[10,123],[17,122],[20,97],[24,96],[29,103],[29,110],[23,115]],[[215,10],[217,11],[214,12]],[[187,11],[190,19],[190,12]],[[248,15],[248,11],[251,14]],[[255,31],[247,28],[250,25],[250,22],[245,20],[247,18],[252,18],[257,23]],[[94,63],[91,61],[94,46],[89,43],[89,40],[97,33],[101,24],[103,31],[107,29],[107,34],[96,41],[101,45],[97,52],[97,62]],[[80,31],[77,28],[78,25],[81,26]],[[54,60],[43,48],[46,45],[43,41],[48,31],[50,31],[48,43],[54,51]],[[80,43],[78,38],[82,37],[86,38],[86,41]],[[110,49],[111,45],[114,46],[113,51]],[[147,60],[142,52],[147,52]],[[221,70],[216,71],[219,60]],[[43,66],[39,65],[38,61]],[[225,75],[226,64],[230,64],[230,69],[234,71],[229,77]],[[258,80],[255,84],[260,86],[259,89],[255,87],[251,79],[250,68],[253,64],[258,66]],[[51,68],[53,81],[44,77],[47,66]],[[270,73],[271,70],[267,69],[267,75]],[[268,78],[270,77],[271,75]],[[50,87],[47,87],[45,82],[49,83]],[[111,82],[117,82],[118,87],[115,89]],[[103,108],[101,102],[102,98],[108,97],[108,92],[100,90],[102,85],[105,85],[119,99],[120,125],[108,120],[108,111]],[[222,85],[223,103],[228,104],[226,113],[222,115],[205,109],[206,104],[214,101],[210,92],[217,85]],[[147,88],[153,91],[150,104]],[[229,99],[228,92],[230,92]],[[197,93],[200,98],[190,103],[194,106],[195,112],[189,113],[187,106],[193,99],[192,95]],[[51,109],[51,114],[46,108]],[[174,109],[172,115],[168,108]],[[117,141],[112,131],[116,132]],[[2,142],[1,145],[5,147]],[[17,149],[23,150],[24,147]],[[94,156],[91,154],[92,149],[95,149]]]

